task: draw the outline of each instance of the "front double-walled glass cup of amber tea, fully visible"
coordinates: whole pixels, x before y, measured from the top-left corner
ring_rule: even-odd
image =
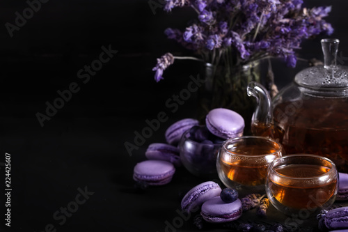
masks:
[[[319,155],[286,155],[267,170],[266,193],[272,205],[287,215],[329,208],[338,192],[335,164]]]

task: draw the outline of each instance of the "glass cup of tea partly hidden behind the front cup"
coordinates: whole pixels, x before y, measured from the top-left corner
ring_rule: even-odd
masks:
[[[223,142],[216,160],[220,180],[241,196],[264,193],[268,165],[283,155],[283,148],[267,137],[244,136]]]

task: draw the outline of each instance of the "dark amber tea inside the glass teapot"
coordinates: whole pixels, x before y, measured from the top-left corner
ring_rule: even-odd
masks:
[[[287,116],[286,112],[296,117]],[[280,103],[274,107],[273,127],[258,123],[251,130],[253,134],[279,138],[287,154],[322,155],[333,160],[340,171],[348,172],[348,100],[345,98]]]

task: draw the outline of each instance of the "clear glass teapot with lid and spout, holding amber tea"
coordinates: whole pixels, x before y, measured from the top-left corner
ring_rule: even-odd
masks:
[[[273,100],[257,82],[247,91],[258,102],[254,135],[278,139],[287,154],[328,157],[348,172],[348,67],[336,64],[338,44],[338,39],[322,40],[324,66],[302,70]]]

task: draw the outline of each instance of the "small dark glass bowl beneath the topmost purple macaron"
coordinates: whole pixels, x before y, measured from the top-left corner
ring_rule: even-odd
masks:
[[[189,138],[189,131],[182,134],[179,144],[184,167],[201,178],[216,178],[216,157],[221,144],[202,144]]]

